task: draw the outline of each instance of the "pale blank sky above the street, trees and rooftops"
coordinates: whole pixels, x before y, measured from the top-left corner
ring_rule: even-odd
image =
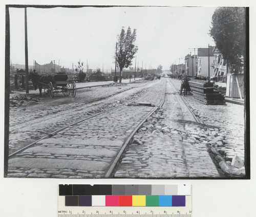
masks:
[[[208,35],[214,7],[27,8],[29,65],[88,61],[89,68],[115,68],[117,35],[137,30],[136,67],[163,69],[194,48],[215,45]],[[10,58],[25,64],[24,8],[10,8]],[[196,52],[197,53],[197,52]],[[135,58],[133,65],[135,65]]]

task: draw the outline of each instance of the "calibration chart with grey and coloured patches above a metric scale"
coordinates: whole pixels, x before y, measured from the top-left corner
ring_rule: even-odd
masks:
[[[191,185],[59,185],[58,217],[191,217]]]

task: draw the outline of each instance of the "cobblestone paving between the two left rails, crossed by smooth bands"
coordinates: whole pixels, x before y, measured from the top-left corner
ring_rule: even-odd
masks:
[[[161,104],[165,80],[138,102]],[[101,178],[123,142],[154,107],[122,106],[99,114],[9,159],[9,177]]]

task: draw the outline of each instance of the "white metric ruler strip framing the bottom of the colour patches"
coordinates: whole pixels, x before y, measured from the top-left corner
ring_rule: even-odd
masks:
[[[191,217],[191,195],[182,207],[79,207],[65,206],[65,197],[58,197],[58,217]]]

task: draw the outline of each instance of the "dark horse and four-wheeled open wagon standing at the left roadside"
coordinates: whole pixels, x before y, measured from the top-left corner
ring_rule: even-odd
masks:
[[[46,96],[53,98],[53,93],[62,92],[65,97],[68,95],[72,95],[72,97],[76,96],[76,83],[73,81],[71,84],[67,82],[67,75],[55,75],[52,76],[40,76],[37,73],[31,73],[31,80],[33,82],[33,86],[36,90],[37,86],[39,88],[39,93],[42,95],[42,88],[44,88],[44,92]]]

